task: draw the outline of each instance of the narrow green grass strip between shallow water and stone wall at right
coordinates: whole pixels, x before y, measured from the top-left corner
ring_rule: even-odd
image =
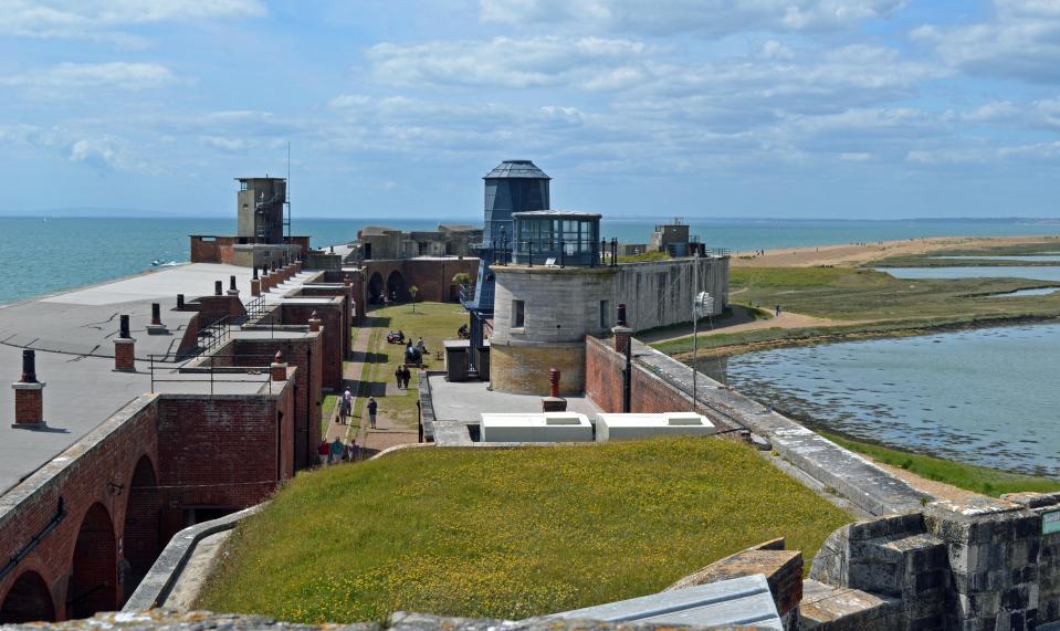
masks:
[[[820,432],[820,434],[832,442],[851,451],[862,453],[883,464],[900,466],[921,477],[936,482],[945,482],[958,488],[974,491],[991,497],[998,497],[1005,493],[1017,493],[1019,491],[1035,491],[1039,493],[1060,491],[1060,480],[1010,473],[996,469],[987,469],[985,466],[974,466],[931,455],[852,441],[826,432]]]

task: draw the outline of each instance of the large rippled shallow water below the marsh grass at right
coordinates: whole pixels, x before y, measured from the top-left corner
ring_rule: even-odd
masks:
[[[783,348],[700,370],[797,419],[1060,477],[1060,324]]]

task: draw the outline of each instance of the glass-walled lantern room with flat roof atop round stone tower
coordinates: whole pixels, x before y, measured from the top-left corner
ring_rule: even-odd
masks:
[[[588,265],[600,262],[600,215],[566,210],[535,210],[512,214],[517,265]]]

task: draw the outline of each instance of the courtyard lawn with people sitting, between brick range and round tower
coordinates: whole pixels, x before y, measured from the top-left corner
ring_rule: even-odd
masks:
[[[456,338],[456,329],[468,322],[468,312],[455,303],[416,303],[414,311],[411,303],[406,303],[372,309],[368,312],[368,319],[372,326],[368,338],[368,353],[375,360],[366,367],[363,382],[369,391],[377,391],[381,390],[381,386],[372,387],[371,383],[393,383],[393,371],[405,362],[405,345],[387,344],[388,330],[402,330],[406,339],[411,339],[413,344],[422,336],[430,351],[423,362],[429,369],[441,370],[444,360],[435,359],[435,351],[442,349],[443,340]],[[414,383],[413,377],[408,391],[402,390],[400,395],[386,398],[376,396],[379,413],[389,414],[402,424],[414,427],[418,422],[418,391]],[[363,416],[365,403],[365,398],[361,398],[359,409],[355,412]]]

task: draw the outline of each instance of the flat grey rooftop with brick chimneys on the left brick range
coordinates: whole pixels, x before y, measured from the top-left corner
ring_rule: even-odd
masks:
[[[190,303],[213,294],[214,281],[229,287],[229,276],[244,302],[250,298],[249,267],[192,263],[167,267],[61,294],[0,305],[0,495],[134,398],[151,391],[149,365],[137,361],[137,372],[115,372],[113,339],[118,316],[128,314],[137,358],[176,350],[196,312],[174,311],[177,294]],[[284,294],[319,275],[304,272],[265,295],[276,304]],[[315,298],[328,299],[328,298]],[[171,335],[148,335],[150,305],[161,303],[161,320]],[[241,338],[298,337],[304,332],[255,330],[234,333]],[[22,349],[34,348],[38,379],[45,382],[46,430],[13,429],[14,391],[10,383],[22,371]],[[267,392],[267,375],[178,375],[156,370],[155,391],[162,393],[250,395]]]

